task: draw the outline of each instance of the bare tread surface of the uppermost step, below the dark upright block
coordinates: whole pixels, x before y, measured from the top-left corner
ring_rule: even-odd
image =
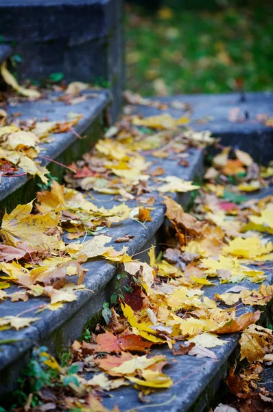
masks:
[[[49,122],[60,121],[63,122],[67,119],[67,114],[76,112],[82,115],[82,119],[75,124],[74,129],[79,135],[83,135],[84,131],[91,126],[97,116],[102,113],[102,110],[110,102],[110,92],[106,90],[88,90],[82,92],[82,94],[94,93],[95,98],[86,98],[84,102],[80,102],[75,105],[69,105],[62,101],[51,101],[52,98],[60,97],[61,93],[49,93],[47,98],[38,100],[36,102],[19,102],[16,106],[8,106],[8,115],[12,113],[21,113],[19,119],[37,119],[38,122],[47,117]],[[47,144],[40,144],[45,152],[41,152],[41,155],[47,155],[51,159],[56,159],[65,149],[67,149],[78,137],[69,130],[67,133],[58,133],[54,136],[54,141]],[[88,150],[88,148],[86,148]],[[41,159],[42,165],[48,165],[51,163],[49,160]],[[19,170],[17,174],[21,174],[22,170]],[[10,196],[19,187],[23,186],[32,176],[16,176],[16,177],[2,177],[0,186],[0,201],[3,201],[7,196]]]

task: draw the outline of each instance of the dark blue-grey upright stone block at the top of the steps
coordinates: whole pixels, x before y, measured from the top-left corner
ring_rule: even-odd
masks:
[[[119,114],[124,81],[122,0],[5,0],[0,3],[0,35],[22,56],[21,80],[64,73],[109,87]]]

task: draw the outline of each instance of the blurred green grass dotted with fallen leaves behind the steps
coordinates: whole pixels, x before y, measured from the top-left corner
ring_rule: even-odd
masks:
[[[273,0],[131,1],[128,89],[141,95],[273,89]]]

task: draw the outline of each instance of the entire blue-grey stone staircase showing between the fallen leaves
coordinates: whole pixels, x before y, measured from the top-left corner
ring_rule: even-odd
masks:
[[[3,5],[3,3],[4,2],[1,2],[0,12],[1,8],[3,8],[3,10],[6,8],[5,12],[10,13],[8,14],[10,15],[10,19],[19,19],[19,10],[16,7],[18,3],[15,0],[7,1],[6,5]],[[27,12],[29,12],[29,4],[31,1],[27,1],[25,4],[26,3],[27,6],[23,8],[23,5],[21,5],[20,10],[23,19],[23,27],[27,27]],[[88,67],[88,69],[86,69],[87,71],[84,71],[82,68],[82,71],[84,71],[85,74],[81,74],[80,72],[80,80],[90,81],[89,78],[86,80],[84,76],[87,76],[86,73],[88,73],[88,71],[93,73],[92,65],[95,65],[96,57],[99,56],[100,59],[102,58],[101,53],[106,53],[104,54],[104,61],[107,60],[108,62],[106,68],[108,71],[107,73],[104,73],[107,74],[107,77],[110,78],[110,80],[112,79],[110,81],[110,90],[98,91],[95,89],[84,91],[82,92],[83,95],[84,93],[88,93],[92,94],[93,97],[87,98],[84,102],[80,102],[72,107],[64,102],[56,100],[56,98],[58,98],[58,93],[49,92],[45,98],[38,100],[37,102],[21,102],[16,106],[8,106],[7,108],[9,115],[20,111],[22,119],[32,119],[33,117],[36,117],[40,120],[47,117],[49,121],[64,120],[67,119],[67,115],[71,111],[83,115],[82,119],[80,119],[78,124],[74,126],[73,130],[55,135],[54,141],[43,146],[45,152],[42,154],[49,157],[49,159],[43,159],[43,164],[48,166],[52,176],[58,176],[59,181],[62,182],[64,169],[60,165],[54,163],[54,161],[69,164],[72,161],[80,159],[82,154],[88,152],[95,141],[102,137],[105,127],[108,126],[107,119],[109,111],[112,115],[112,119],[115,119],[117,113],[120,113],[121,82],[117,85],[113,80],[115,76],[111,71],[112,60],[109,59],[112,58],[115,60],[115,53],[117,52],[116,45],[121,42],[120,32],[122,32],[122,30],[120,28],[118,29],[121,21],[121,9],[118,7],[115,8],[115,6],[120,3],[119,1],[115,3],[115,0],[82,1],[79,2],[79,4],[84,5],[82,6],[84,8],[79,8],[76,11],[73,9],[74,5],[72,4],[72,1],[56,1],[56,5],[51,5],[52,2],[50,1],[48,3],[50,3],[48,9],[49,16],[56,16],[56,10],[58,11],[59,9],[59,12],[64,13],[64,15],[67,13],[67,16],[70,16],[67,17],[67,21],[65,19],[62,20],[60,27],[56,27],[57,33],[54,37],[55,40],[58,39],[58,41],[56,41],[56,43],[58,43],[56,52],[59,47],[63,47],[64,41],[68,41],[68,34],[67,36],[60,36],[60,34],[65,34],[62,30],[65,29],[66,25],[71,24],[71,21],[69,20],[70,18],[73,18],[73,16],[71,17],[71,13],[82,13],[80,14],[83,19],[82,27],[84,24],[87,24],[84,20],[87,18],[86,16],[93,16],[94,19],[96,16],[100,16],[101,19],[95,19],[95,21],[101,22],[101,25],[98,27],[91,27],[92,25],[89,20],[90,32],[83,31],[81,35],[78,35],[75,28],[76,32],[73,34],[74,40],[77,38],[78,42],[80,42],[82,36],[85,36],[88,38],[88,42],[90,41],[91,43],[82,45],[83,43],[76,42],[75,49],[79,47],[79,50],[77,53],[75,49],[73,49],[73,51],[70,50],[71,55],[69,54],[68,59],[70,62],[73,61],[73,58],[71,57],[73,53],[77,54],[77,59],[89,59],[88,62],[90,63],[90,66],[87,64],[84,66],[85,69]],[[43,9],[46,5],[47,1],[38,0],[35,5],[35,7],[38,8],[39,19],[41,19],[40,27],[44,28],[47,27],[47,23],[43,20],[46,19],[45,10]],[[73,9],[72,12],[71,8]],[[53,32],[54,27],[54,25],[51,27]],[[107,30],[106,27],[108,27]],[[7,42],[11,40],[11,37],[8,37],[8,30],[8,25],[4,25],[3,33],[6,36]],[[27,34],[26,28],[25,32]],[[119,35],[117,32],[119,32]],[[56,62],[51,62],[52,64],[49,64],[49,62],[45,61],[49,56],[42,56],[43,53],[40,52],[40,49],[49,47],[49,43],[52,39],[44,38],[43,36],[45,36],[45,33],[43,33],[43,30],[40,28],[39,33],[35,34],[38,37],[32,38],[32,36],[28,34],[29,37],[25,43],[21,43],[22,39],[20,39],[21,33],[19,30],[16,30],[15,34],[18,36],[16,52],[21,52],[23,55],[27,56],[22,68],[21,76],[24,77],[24,73],[27,73],[28,76],[26,70],[27,61],[29,61],[29,59],[35,60],[36,55],[40,57],[37,61],[32,62],[33,64],[31,69],[29,68],[29,73],[31,72],[34,77],[39,76],[41,70],[40,67],[43,69],[43,76],[47,76],[51,73],[52,68],[56,67],[54,66]],[[108,36],[112,38],[110,44],[107,43]],[[71,46],[73,48],[74,43],[71,39],[69,42],[69,47]],[[93,44],[97,44],[97,47],[100,47],[99,45],[102,45],[104,42],[108,45],[108,52],[103,52],[102,47],[101,49],[97,49],[97,54],[93,51],[91,55],[86,55],[86,47],[88,50]],[[34,51],[32,51],[34,43],[35,48]],[[46,43],[46,45],[43,43]],[[79,46],[79,44],[81,45]],[[13,50],[10,45],[0,45],[0,62],[8,58],[12,52]],[[82,53],[82,55],[80,55],[80,53]],[[107,55],[107,53],[110,54]],[[43,60],[44,58],[45,60]],[[58,58],[60,58],[60,56],[56,57],[56,61]],[[118,59],[122,60],[122,56],[119,56]],[[119,62],[121,60],[119,60]],[[62,65],[63,67],[60,70],[63,70],[64,74],[66,74],[67,60],[62,60]],[[67,78],[69,78],[69,80],[78,80],[78,78],[75,78],[77,74],[76,71],[72,70],[72,63],[69,65],[69,70],[70,69],[71,71],[67,73]],[[100,69],[98,68],[97,70],[99,71]],[[122,78],[123,75],[121,72],[123,69],[119,72],[119,69],[116,67],[115,70],[118,71],[118,76],[121,76]],[[174,98],[163,98],[161,101],[167,102],[169,107],[172,106],[171,102],[187,102],[191,117],[190,126],[193,126],[196,130],[211,130],[215,137],[221,137],[221,144],[233,145],[241,150],[246,150],[257,161],[261,161],[261,159],[263,159],[264,162],[272,160],[273,128],[265,126],[260,121],[259,116],[257,116],[267,113],[270,117],[273,117],[272,93],[246,93],[244,96],[239,95],[239,93],[230,93],[227,95],[181,95]],[[110,106],[111,102],[114,102],[114,106]],[[241,120],[230,122],[230,120],[228,120],[228,115],[235,107],[238,107],[237,119]],[[168,108],[167,110],[162,111],[152,106],[141,105],[133,106],[132,111],[133,113],[141,113],[143,117],[162,114],[166,111],[171,115],[174,115],[174,117],[185,115],[185,111],[182,111],[182,109]],[[244,121],[242,120],[242,117],[244,117]],[[79,138],[79,136],[82,137],[82,139]],[[189,157],[187,157],[189,167],[187,168],[183,168],[182,166],[178,167],[177,162],[172,159],[155,160],[154,157],[149,157],[149,155],[147,155],[148,160],[152,161],[150,170],[152,171],[160,165],[165,169],[166,175],[178,176],[185,180],[200,181],[202,179],[204,167],[204,153],[202,150],[196,148],[189,148],[187,153],[189,155]],[[29,176],[24,175],[16,178],[3,178],[0,186],[1,216],[3,216],[5,209],[11,211],[16,205],[31,201],[35,197],[36,191],[36,183],[34,179]],[[261,196],[265,196],[265,194],[272,194],[272,190],[269,189],[266,193],[261,193]],[[90,196],[94,196],[97,199],[97,201],[94,201],[92,198],[92,202],[99,206],[104,205],[104,207],[110,208],[117,204],[117,202],[115,202],[115,200],[113,201],[112,197],[107,194],[98,194],[97,192],[93,193],[90,191]],[[172,194],[172,198],[178,201],[183,207],[189,205],[189,194]],[[137,203],[128,201],[128,205],[134,207],[137,206]],[[151,213],[152,222],[145,223],[146,228],[133,220],[125,220],[108,229],[108,234],[113,239],[112,245],[115,246],[115,249],[118,249],[115,239],[123,236],[124,233],[134,234],[134,239],[126,244],[126,246],[128,246],[128,253],[130,255],[139,253],[138,258],[141,260],[147,261],[147,249],[152,245],[156,246],[157,251],[161,249],[160,243],[165,221],[165,207],[159,201],[154,203],[154,207],[155,209]],[[86,240],[87,239],[88,236]],[[121,248],[122,245],[119,246]],[[28,328],[24,328],[17,332],[12,330],[0,332],[0,340],[14,340],[14,343],[12,344],[1,345],[0,396],[5,396],[6,393],[12,391],[14,382],[16,378],[18,378],[21,368],[25,366],[29,360],[34,345],[45,345],[49,348],[49,351],[52,354],[60,353],[63,348],[69,347],[74,339],[77,339],[80,336],[84,325],[92,323],[92,320],[94,322],[96,315],[102,309],[102,304],[105,301],[110,301],[110,296],[115,290],[115,276],[117,275],[116,266],[105,260],[97,259],[92,262],[86,262],[84,268],[87,270],[84,279],[84,285],[87,290],[79,290],[77,293],[78,299],[76,301],[64,304],[62,308],[54,312],[49,310],[41,312],[38,314],[40,319]],[[267,282],[269,284],[272,283],[272,272],[270,271],[268,271]],[[250,283],[246,281],[244,282],[244,286],[250,287]],[[251,287],[259,288],[259,286],[255,286],[255,284],[251,284]],[[216,284],[215,286],[206,288],[206,295],[213,297],[214,293],[224,293],[228,288],[230,288],[230,284]],[[16,286],[10,288],[11,293],[16,290]],[[37,307],[44,303],[45,298],[43,297],[29,299],[27,302],[18,301],[16,303],[12,303],[7,299],[0,304],[0,317],[5,315],[18,315],[25,311],[27,311],[27,316],[36,316],[35,311],[37,310]],[[245,310],[250,311],[252,308],[246,306]],[[214,350],[217,360],[195,358],[194,356],[187,355],[181,357],[178,356],[176,358],[177,362],[172,364],[167,371],[169,376],[174,380],[174,385],[168,389],[168,391],[158,391],[156,394],[151,395],[151,400],[152,403],[155,404],[154,409],[156,411],[202,412],[208,409],[209,405],[213,403],[217,390],[219,389],[220,381],[226,376],[230,361],[235,357],[237,351],[238,334],[224,337],[227,343]],[[166,347],[161,346],[160,350],[153,350],[153,354],[158,353],[164,353],[167,358],[173,358],[171,352],[169,352]],[[166,403],[168,401],[169,403]],[[141,403],[137,398],[137,391],[134,391],[132,386],[117,389],[113,397],[106,398],[104,404],[109,409],[117,404],[121,411],[130,408],[138,410],[137,408],[141,406]]]

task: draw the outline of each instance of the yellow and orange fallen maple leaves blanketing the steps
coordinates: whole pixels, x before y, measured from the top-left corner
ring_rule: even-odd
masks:
[[[235,150],[236,159],[233,152],[228,159],[230,148],[213,159],[206,172],[209,183],[202,189],[166,176],[163,168],[153,170],[153,157],[168,157],[187,167],[189,146],[215,143],[209,133],[176,130],[169,121],[160,116],[122,119],[83,161],[71,166],[76,173],[67,174],[67,186],[53,181],[49,190],[38,192],[34,209],[33,202],[19,205],[3,217],[1,299],[45,295],[50,304],[39,310],[58,310],[64,302],[77,299],[76,291],[84,288],[82,263],[98,256],[119,264],[118,277],[128,278],[126,289],[120,288],[112,299],[115,308],[104,304],[106,325],[97,325],[95,331],[86,332],[84,341],[75,341],[65,366],[44,349],[36,352],[40,372],[30,382],[37,384],[38,379],[39,385],[29,389],[28,410],[40,410],[40,402],[45,402],[46,410],[104,411],[100,401],[106,393],[131,383],[142,399],[173,385],[163,371],[166,356],[148,356],[151,347],[165,344],[174,356],[216,359],[213,348],[225,345],[223,334],[234,332],[241,332],[241,361],[249,367],[239,376],[232,369],[227,381],[230,390],[248,402],[250,411],[255,397],[272,404],[272,394],[255,388],[254,382],[262,365],[273,361],[272,330],[256,325],[273,296],[273,287],[261,283],[266,262],[273,258],[273,244],[263,237],[273,233],[273,197],[248,200],[240,187],[242,182],[248,184],[251,168],[256,170],[252,186],[253,179],[259,187],[268,182],[245,152]],[[191,214],[167,196],[198,188]],[[86,196],[89,190],[114,195],[121,203],[111,209],[97,207]],[[150,264],[134,259],[126,247],[115,250],[108,245],[109,236],[97,233],[127,218],[137,216],[143,224],[151,221],[151,205],[158,197],[169,220],[164,242],[168,247],[158,256],[150,249]],[[126,205],[132,200],[139,206]],[[95,236],[85,240],[87,234]],[[130,241],[130,236],[120,241]],[[70,276],[76,276],[76,282],[68,282]],[[244,280],[261,286],[248,288],[245,282],[215,294],[214,299],[206,296],[210,286]],[[9,294],[11,284],[21,286],[20,290]],[[0,328],[18,330],[36,319],[3,317]],[[47,376],[45,382],[41,371]],[[95,374],[90,378],[88,372]]]

